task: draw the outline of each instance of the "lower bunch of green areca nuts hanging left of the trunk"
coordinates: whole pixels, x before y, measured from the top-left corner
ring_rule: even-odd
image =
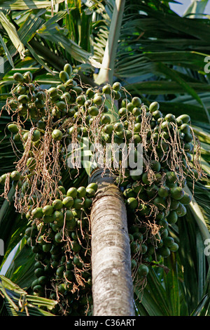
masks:
[[[91,303],[90,206],[97,185],[59,186],[62,197],[43,207],[32,207],[27,213],[31,225],[25,239],[35,253],[36,263],[31,284],[35,294],[68,301],[57,305],[68,315],[85,314]],[[62,306],[62,307],[61,307]],[[55,310],[56,312],[56,310]]]

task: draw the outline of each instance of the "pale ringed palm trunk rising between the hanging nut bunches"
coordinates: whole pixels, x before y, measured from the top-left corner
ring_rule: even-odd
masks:
[[[127,211],[114,178],[92,173],[98,185],[90,215],[94,316],[134,316]]]

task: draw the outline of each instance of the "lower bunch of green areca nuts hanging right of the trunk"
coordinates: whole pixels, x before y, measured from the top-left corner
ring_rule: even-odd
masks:
[[[160,173],[159,161],[153,164]],[[177,185],[176,174],[173,171],[165,171],[164,174],[166,180],[163,185],[158,180],[149,183],[144,173],[140,180],[134,180],[123,192],[132,218],[129,226],[132,267],[142,279],[148,274],[150,263],[160,262],[179,249],[179,244],[170,235],[171,226],[186,215],[186,205],[191,202],[190,194]]]

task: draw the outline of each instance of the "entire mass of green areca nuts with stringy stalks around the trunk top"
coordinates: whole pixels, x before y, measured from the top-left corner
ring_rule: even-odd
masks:
[[[60,172],[69,143],[84,138],[92,144],[133,143],[136,161],[138,145],[143,145],[141,175],[130,175],[129,165],[122,170],[122,159],[121,167],[113,169],[112,162],[109,170],[127,206],[132,270],[144,282],[149,265],[179,248],[171,232],[191,201],[186,178],[200,177],[197,140],[187,114],[164,115],[158,102],[144,105],[120,82],[85,86],[69,64],[59,72],[60,84],[48,89],[38,86],[31,72],[13,78],[6,104],[13,121],[7,128],[23,154],[0,183],[7,192],[9,182],[15,183],[15,206],[29,221],[25,238],[36,258],[34,293],[60,300],[62,313],[74,315],[91,304],[89,216],[97,185],[64,186]]]

